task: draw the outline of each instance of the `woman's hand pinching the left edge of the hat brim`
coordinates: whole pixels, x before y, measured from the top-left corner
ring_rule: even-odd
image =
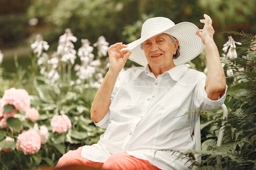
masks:
[[[122,42],[117,42],[108,48],[110,71],[119,73],[124,68],[127,59],[131,55],[129,49],[124,49],[126,47],[127,45],[123,44]]]

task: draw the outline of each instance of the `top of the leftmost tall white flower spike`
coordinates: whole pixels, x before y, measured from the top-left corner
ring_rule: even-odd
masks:
[[[30,45],[33,52],[37,54],[37,57],[40,57],[42,52],[49,49],[49,45],[46,41],[43,41],[43,37],[41,35],[36,35],[36,40],[33,44]]]

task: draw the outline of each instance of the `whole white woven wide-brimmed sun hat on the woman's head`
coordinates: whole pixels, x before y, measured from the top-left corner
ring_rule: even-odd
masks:
[[[185,64],[197,57],[204,49],[202,39],[196,35],[198,31],[199,28],[191,22],[175,24],[165,17],[150,18],[142,25],[141,38],[128,44],[127,49],[132,52],[129,59],[141,66],[147,66],[148,61],[140,45],[155,35],[167,33],[180,42],[180,56],[177,59],[173,59],[174,64],[176,66]]]

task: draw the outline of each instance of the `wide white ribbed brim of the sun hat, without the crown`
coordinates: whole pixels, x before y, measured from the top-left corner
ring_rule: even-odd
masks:
[[[195,24],[191,22],[181,22],[165,31],[161,31],[159,33],[153,32],[150,35],[139,38],[138,40],[128,44],[127,49],[130,49],[132,52],[129,59],[141,66],[147,66],[148,61],[144,51],[140,48],[140,45],[155,35],[167,33],[175,37],[180,42],[180,56],[173,60],[174,64],[176,66],[185,64],[197,57],[204,49],[202,39],[196,35],[198,31],[200,30]]]

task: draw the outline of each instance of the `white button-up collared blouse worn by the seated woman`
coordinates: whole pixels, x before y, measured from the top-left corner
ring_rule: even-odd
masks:
[[[162,170],[187,170],[191,165],[187,159],[177,159],[178,154],[163,150],[192,150],[198,114],[185,113],[215,109],[224,103],[226,94],[216,101],[207,97],[205,79],[204,73],[186,65],[157,78],[148,66],[121,73],[107,115],[95,123],[106,131],[97,144],[83,146],[81,156],[104,162],[115,153],[127,152]]]

